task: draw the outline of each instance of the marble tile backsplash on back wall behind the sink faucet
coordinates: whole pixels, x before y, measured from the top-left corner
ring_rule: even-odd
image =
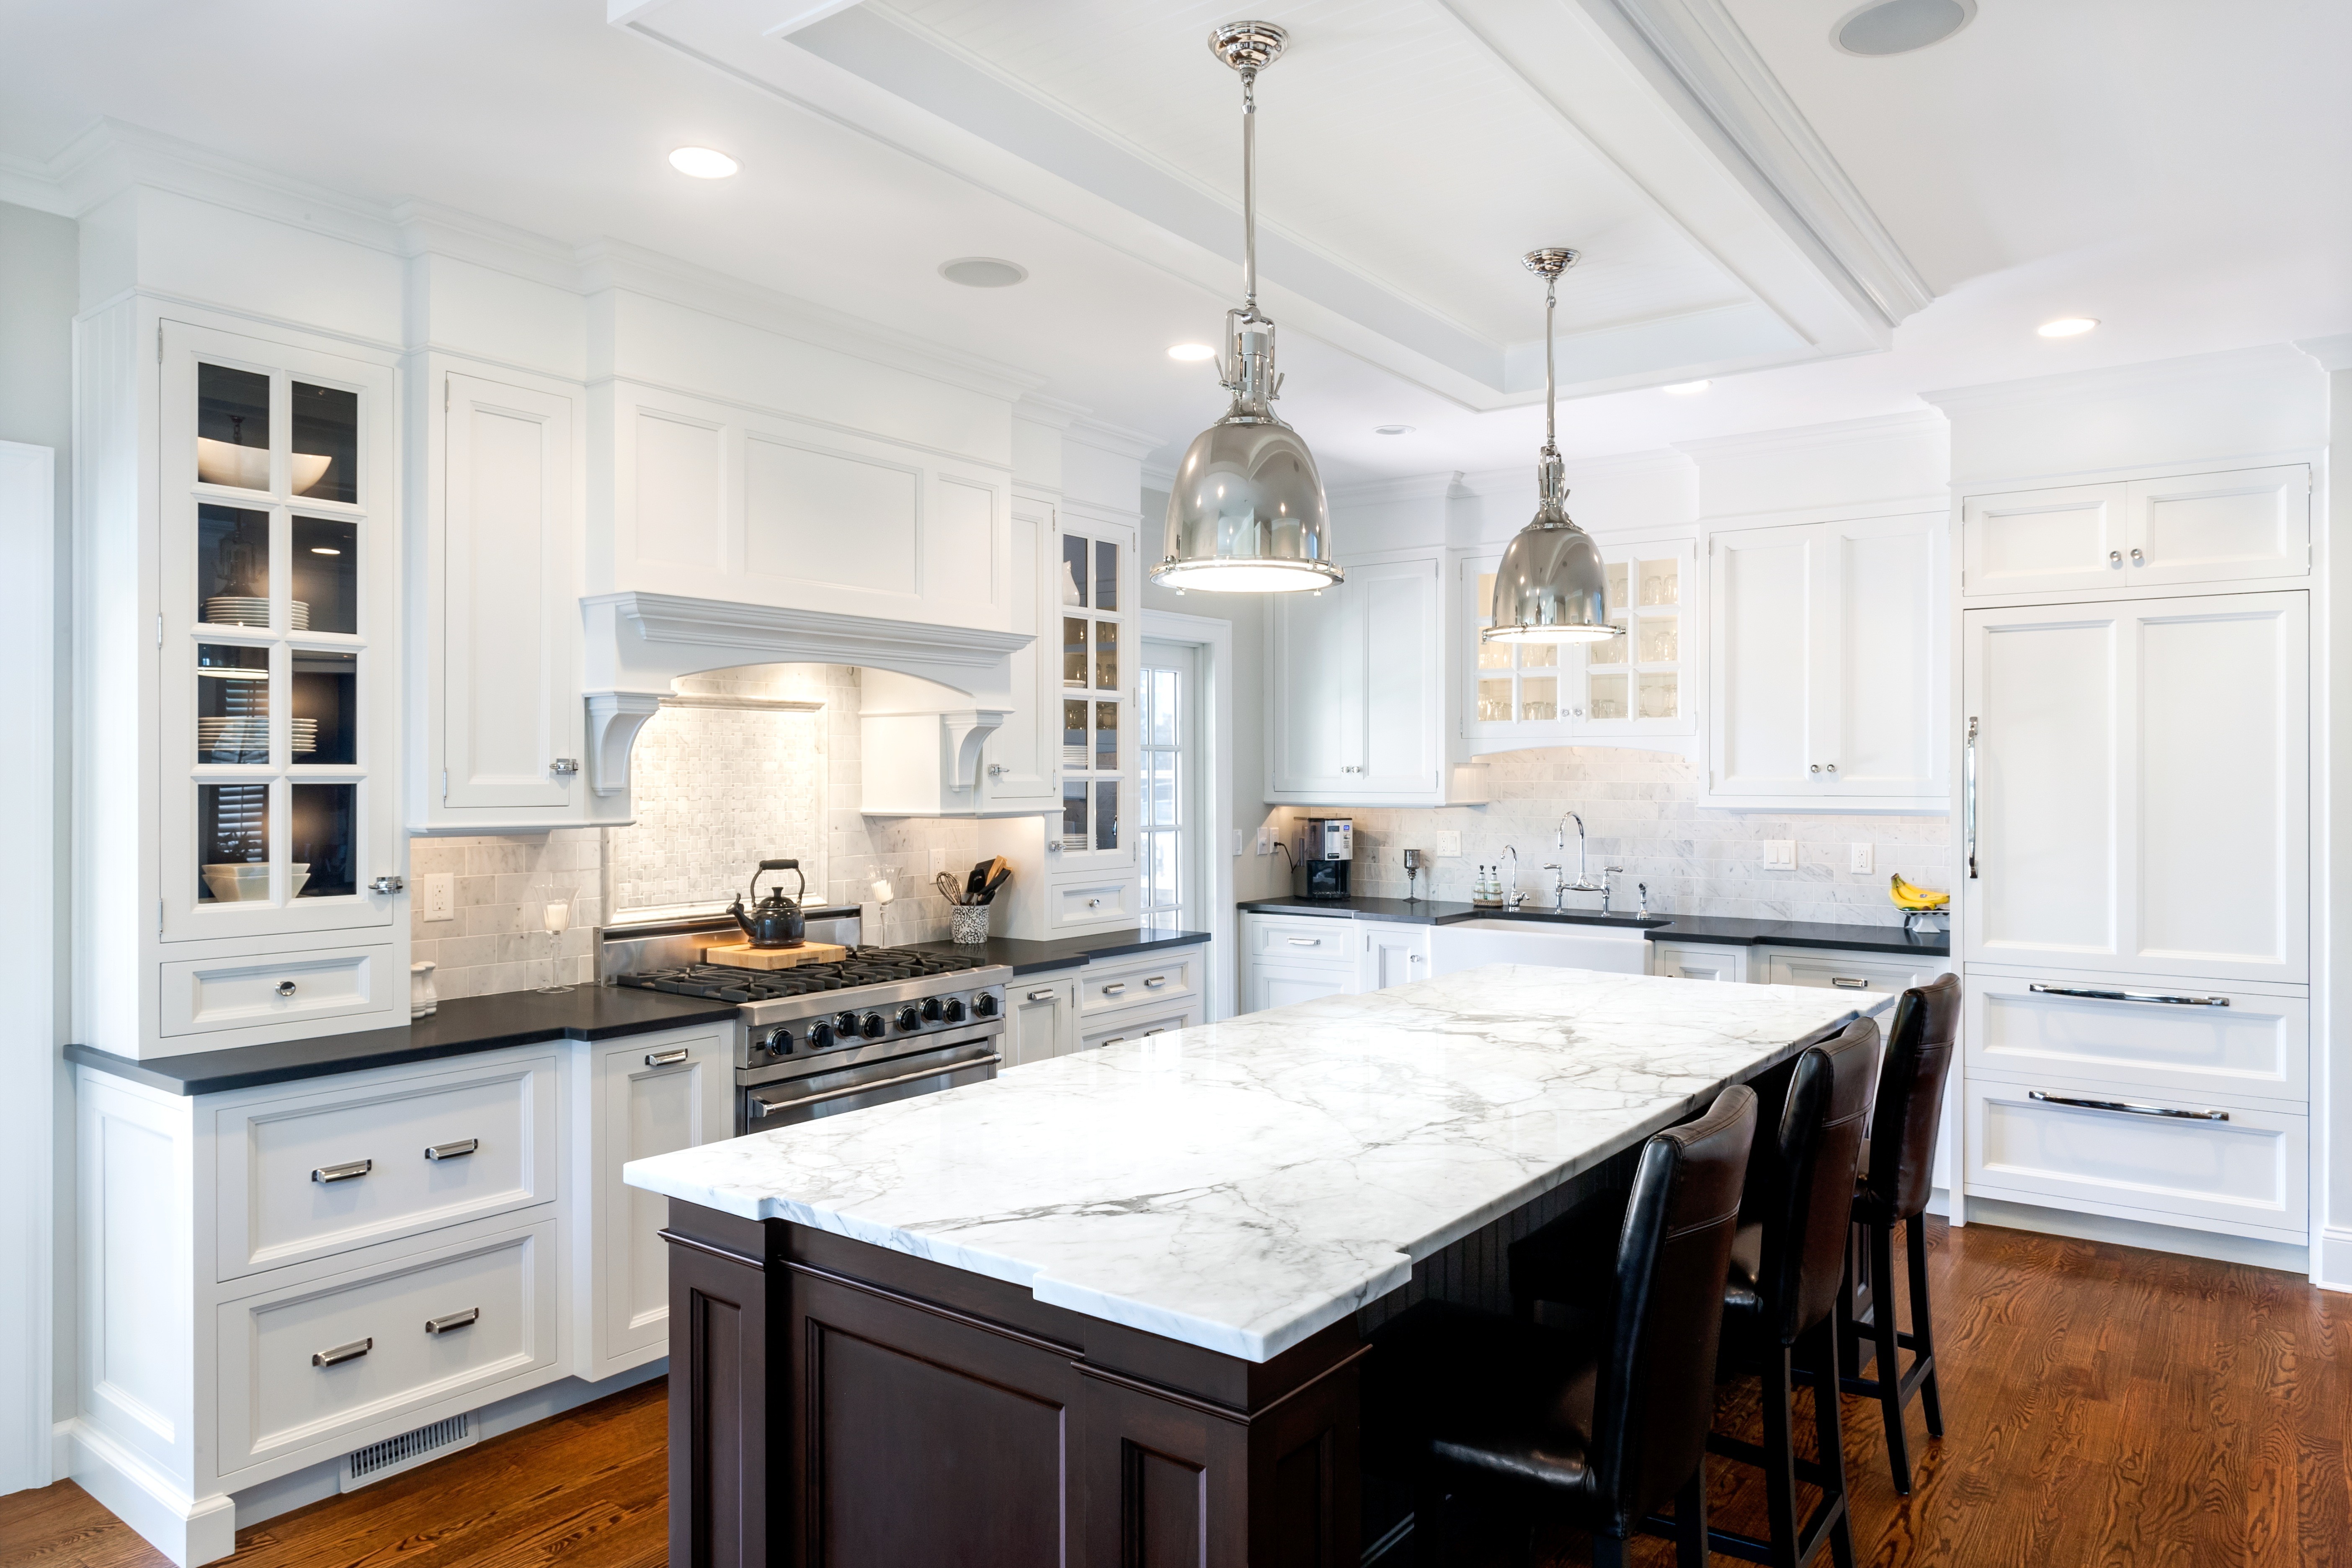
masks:
[[[1486,806],[1334,809],[1355,818],[1352,886],[1374,898],[1402,898],[1404,849],[1428,856],[1423,898],[1468,900],[1477,867],[1519,851],[1519,889],[1548,905],[1559,816],[1585,818],[1585,860],[1604,865],[1616,910],[1635,907],[1635,884],[1649,884],[1649,907],[1663,914],[1804,919],[1849,926],[1896,926],[1903,912],[1886,898],[1886,877],[1952,886],[1952,830],[1945,816],[1816,816],[1724,811],[1703,804],[1703,764],[1675,752],[1616,748],[1543,748],[1503,752],[1494,766],[1496,799]],[[1294,809],[1296,818],[1317,816]],[[1437,856],[1437,835],[1463,835],[1461,856]],[[1795,839],[1797,870],[1766,870],[1764,842]],[[1851,872],[1853,844],[1872,846],[1872,870]],[[1576,879],[1576,825],[1569,825],[1569,879]],[[1569,893],[1569,907],[1597,907],[1599,896]]]

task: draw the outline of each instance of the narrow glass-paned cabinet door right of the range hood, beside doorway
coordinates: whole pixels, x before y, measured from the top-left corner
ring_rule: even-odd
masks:
[[[1061,534],[1061,816],[1051,839],[1063,865],[1124,858],[1127,691],[1136,661],[1134,538],[1063,515]]]

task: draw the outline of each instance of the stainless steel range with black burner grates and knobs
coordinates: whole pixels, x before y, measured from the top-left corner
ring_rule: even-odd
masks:
[[[736,940],[731,919],[609,926],[597,971],[612,985],[734,1001],[736,1133],[981,1084],[1004,1060],[1014,971],[964,954],[858,945],[856,910],[809,910],[809,940],[849,957],[800,969],[706,964]]]

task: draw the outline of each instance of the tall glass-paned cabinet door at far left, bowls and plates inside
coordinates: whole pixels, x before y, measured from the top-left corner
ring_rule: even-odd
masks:
[[[388,367],[165,322],[165,940],[397,912],[390,421]]]

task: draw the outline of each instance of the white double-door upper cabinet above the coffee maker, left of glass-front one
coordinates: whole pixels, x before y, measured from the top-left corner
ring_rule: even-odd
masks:
[[[1439,559],[1350,564],[1338,588],[1275,597],[1268,628],[1268,802],[1446,802]]]

